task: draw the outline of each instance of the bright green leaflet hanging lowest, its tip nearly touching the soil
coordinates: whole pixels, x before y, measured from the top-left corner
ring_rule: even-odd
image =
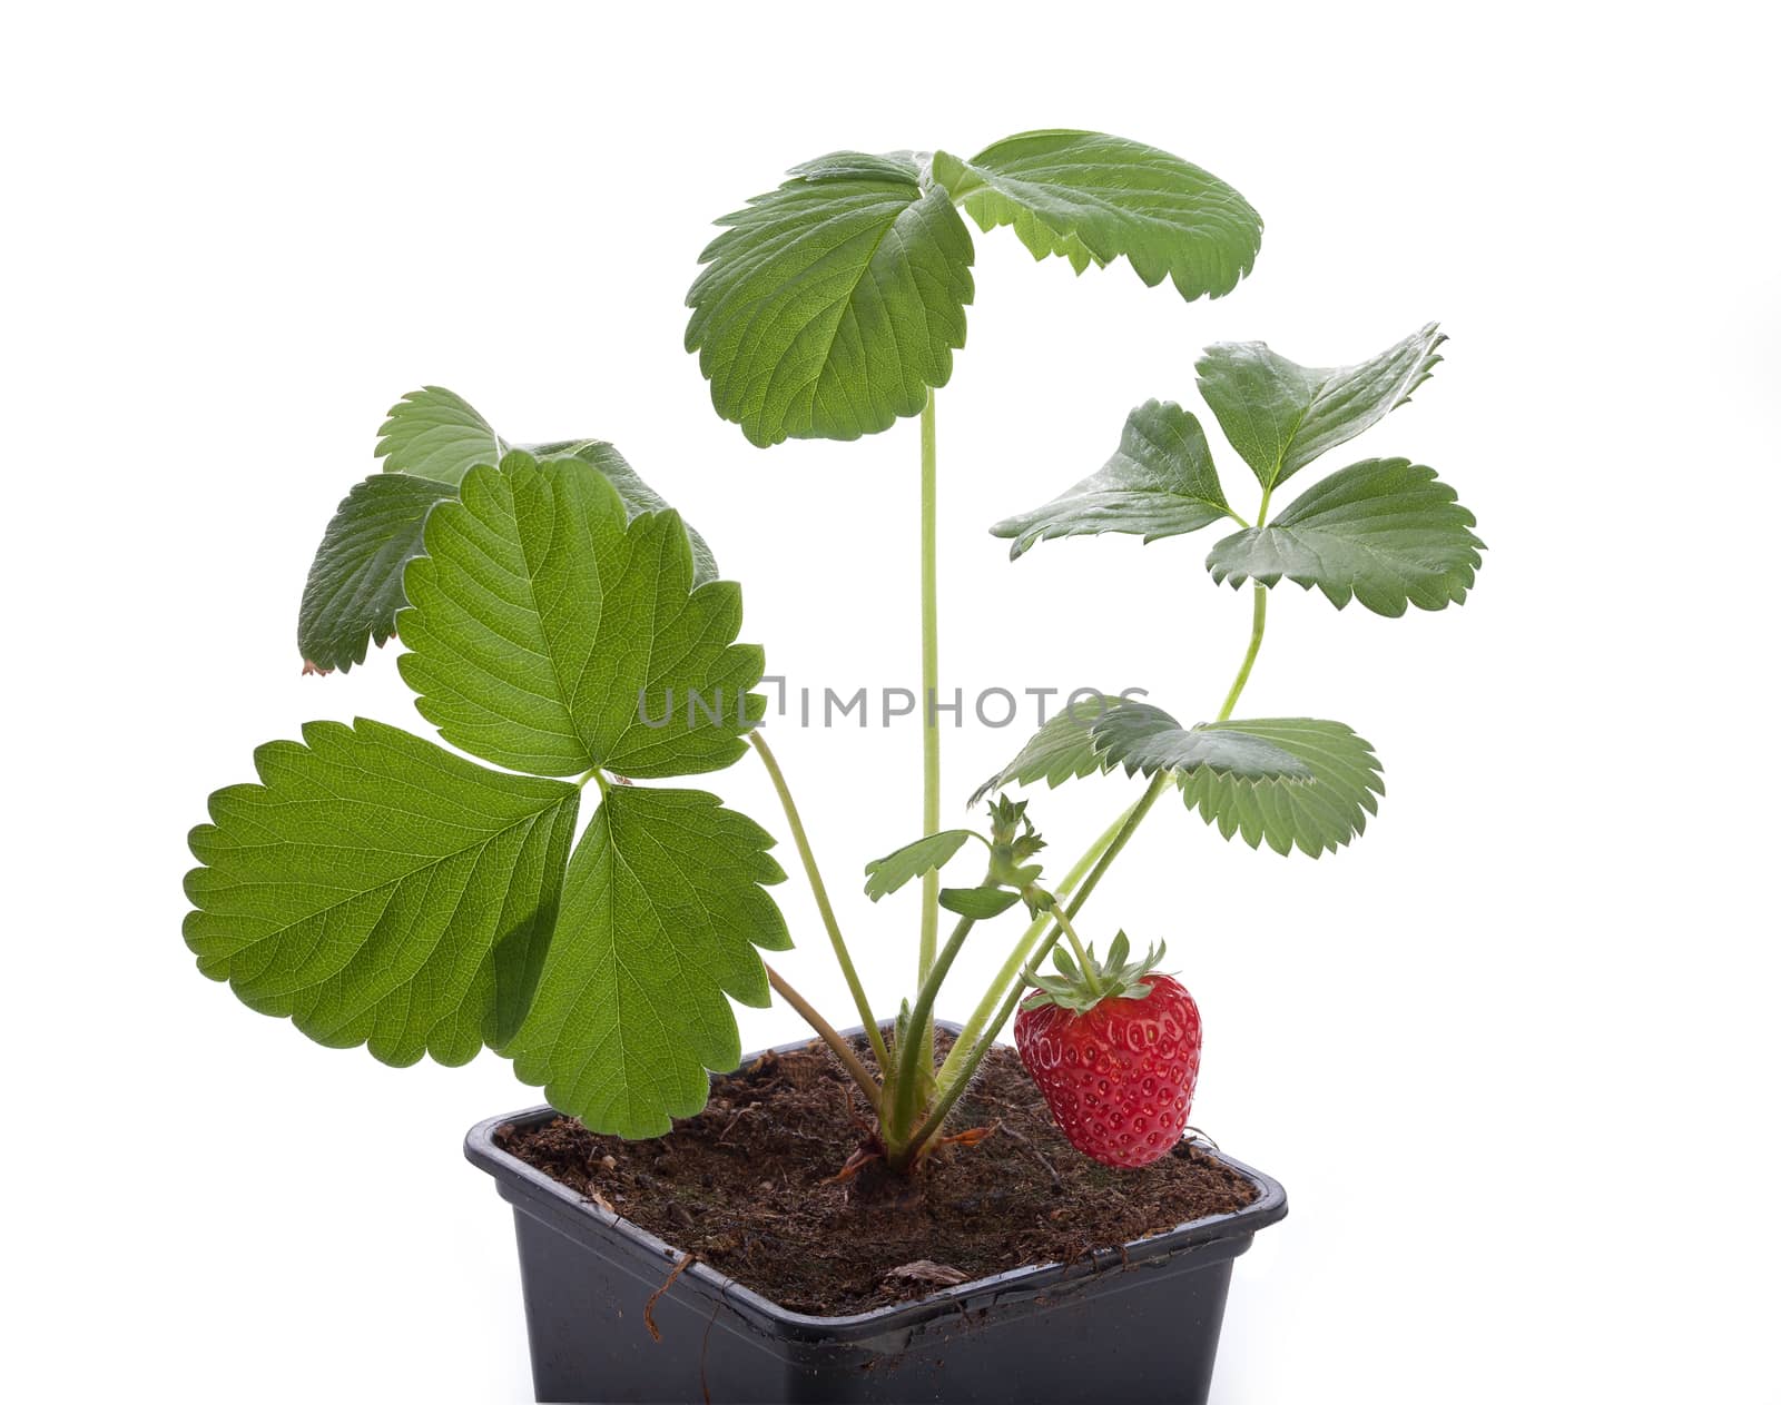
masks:
[[[525,1024],[502,1051],[597,1133],[661,1136],[741,1061],[725,995],[768,1004],[755,947],[791,946],[773,837],[702,791],[614,785],[575,848]]]

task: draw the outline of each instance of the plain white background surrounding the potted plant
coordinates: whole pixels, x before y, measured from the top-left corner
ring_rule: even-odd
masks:
[[[1332,463],[1437,467],[1491,547],[1439,614],[1275,593],[1245,711],[1378,746],[1362,841],[1281,860],[1165,807],[1088,908],[1168,938],[1206,1013],[1195,1122],[1291,1193],[1238,1264],[1216,1398],[1781,1400],[1770,21],[999,9],[9,11],[14,1400],[529,1398],[509,1220],[458,1145],[534,1093],[486,1054],[326,1052],[199,979],[185,830],[308,718],[424,730],[388,655],[303,678],[292,643],[321,527],[420,383],[515,438],[616,442],[744,582],[771,671],[912,686],[914,424],[752,449],[680,299],[709,221],[796,160],[1051,125],[1179,151],[1268,233],[1209,305],[978,239],[939,408],[947,686],[1216,707],[1248,611],[1209,536],[1010,566],[983,531],[1138,401],[1195,406],[1211,340],[1341,363],[1439,319],[1434,381]],[[915,730],[775,739],[853,894],[915,830]],[[1015,741],[947,734],[947,794]],[[714,787],[777,823],[746,764]],[[1131,794],[1035,812],[1067,858]],[[844,1017],[782,899],[787,969]],[[844,922],[892,1004],[912,903]]]

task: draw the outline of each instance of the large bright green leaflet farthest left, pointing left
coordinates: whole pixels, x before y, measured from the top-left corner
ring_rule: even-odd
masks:
[[[385,1063],[465,1063],[518,1027],[579,791],[394,727],[315,721],[191,833],[185,944],[249,1008]]]

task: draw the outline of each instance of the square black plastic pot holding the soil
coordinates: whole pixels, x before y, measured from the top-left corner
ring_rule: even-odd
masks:
[[[552,1117],[465,1138],[513,1204],[547,1401],[1206,1401],[1231,1263],[1286,1216],[1279,1181],[1213,1152],[1261,1190],[1236,1214],[846,1318],[787,1312],[695,1263],[650,1309],[655,1341],[643,1311],[680,1250],[495,1145],[497,1127]]]

